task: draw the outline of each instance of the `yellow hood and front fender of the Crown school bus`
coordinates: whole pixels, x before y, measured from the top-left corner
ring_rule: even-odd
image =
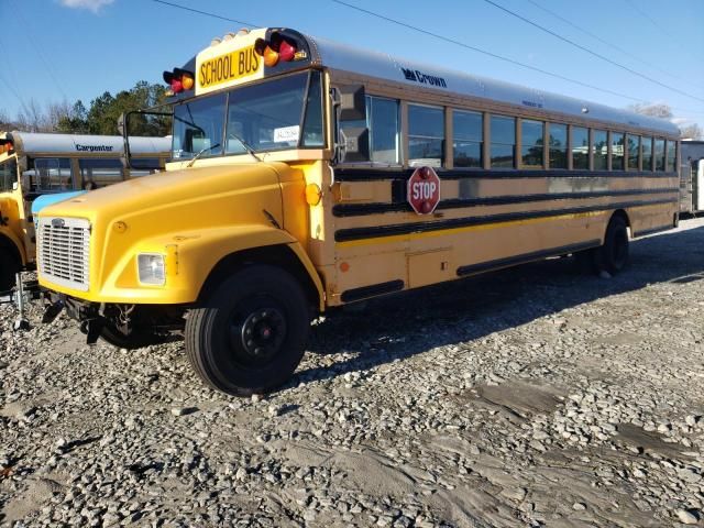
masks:
[[[294,222],[301,213],[289,207],[293,217],[287,219],[283,212],[283,194],[300,191],[299,208],[306,207],[302,189],[300,169],[286,164],[243,164],[152,175],[47,207],[43,218],[90,221],[91,279],[85,293],[52,284],[42,275],[40,282],[97,302],[187,304],[198,298],[209,273],[223,257],[246,249],[286,244],[321,294],[322,285],[301,248],[301,238],[286,230],[288,224],[299,237],[305,234],[301,222]],[[289,206],[295,201],[289,197]],[[140,284],[140,253],[169,256],[165,285]]]

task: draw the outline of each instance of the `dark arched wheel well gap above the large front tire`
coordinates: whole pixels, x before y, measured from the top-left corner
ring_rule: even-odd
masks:
[[[208,275],[202,288],[200,288],[198,300],[206,299],[222,280],[238,270],[254,264],[268,264],[290,273],[304,288],[306,297],[308,297],[314,309],[318,312],[320,306],[318,288],[310,279],[298,256],[285,244],[252,248],[224,256]]]

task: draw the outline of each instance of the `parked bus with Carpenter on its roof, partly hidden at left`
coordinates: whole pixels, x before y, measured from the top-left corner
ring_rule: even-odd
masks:
[[[42,196],[111,185],[164,167],[168,138],[136,138],[136,169],[123,168],[123,139],[105,135],[0,132],[0,293],[35,262],[32,206]],[[18,284],[18,289],[19,289]]]

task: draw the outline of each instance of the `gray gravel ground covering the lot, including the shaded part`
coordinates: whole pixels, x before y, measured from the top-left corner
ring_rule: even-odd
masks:
[[[704,526],[704,219],[322,321],[266,397],[0,308],[0,526]]]

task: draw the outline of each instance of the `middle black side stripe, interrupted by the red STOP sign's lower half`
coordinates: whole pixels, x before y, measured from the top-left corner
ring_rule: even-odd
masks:
[[[588,198],[612,198],[634,195],[661,195],[679,191],[679,187],[671,187],[661,189],[598,190],[592,193],[547,193],[541,195],[487,196],[484,198],[450,198],[448,200],[441,200],[440,204],[438,204],[438,209],[459,209],[463,207],[477,206],[508,206],[549,200],[584,200]],[[332,215],[336,217],[363,217],[366,215],[404,211],[413,211],[413,208],[407,201],[400,201],[399,199],[392,204],[338,204],[332,207]]]

